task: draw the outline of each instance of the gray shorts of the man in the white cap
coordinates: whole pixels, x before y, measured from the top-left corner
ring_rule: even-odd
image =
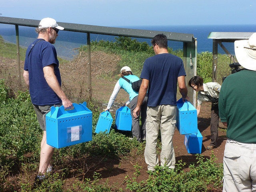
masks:
[[[43,106],[33,104],[38,123],[40,125],[40,128],[43,131],[46,131],[45,115],[51,110],[52,106],[60,107],[62,106],[62,103],[53,104],[53,105],[43,105]]]

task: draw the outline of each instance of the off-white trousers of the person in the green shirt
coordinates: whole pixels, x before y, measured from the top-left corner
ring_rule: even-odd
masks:
[[[223,192],[256,191],[256,144],[228,139],[223,158]]]

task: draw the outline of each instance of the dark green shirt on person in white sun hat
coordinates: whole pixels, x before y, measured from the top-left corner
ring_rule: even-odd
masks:
[[[222,83],[219,115],[227,122],[227,137],[242,143],[256,143],[256,71],[242,70]]]

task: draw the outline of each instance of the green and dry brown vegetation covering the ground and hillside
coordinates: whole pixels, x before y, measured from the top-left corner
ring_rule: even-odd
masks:
[[[154,55],[152,46],[139,43],[131,38],[119,37],[116,42],[92,42],[93,78],[116,80],[119,69],[129,65],[134,74],[139,75],[143,62]],[[136,48],[136,49],[134,49]],[[20,56],[24,62],[24,49]],[[182,57],[182,50],[169,52]],[[0,41],[0,192],[17,191],[51,191],[51,192],[216,192],[222,190],[222,164],[215,162],[214,154],[208,159],[196,155],[196,162],[189,165],[179,161],[175,170],[166,167],[156,167],[156,172],[149,173],[147,179],[138,180],[142,166],[134,163],[134,174],[127,175],[121,183],[109,184],[102,180],[102,174],[94,171],[99,164],[138,158],[143,160],[145,143],[130,140],[130,132],[124,133],[114,129],[114,121],[109,134],[95,134],[102,106],[100,100],[86,100],[86,76],[84,63],[87,60],[86,46],[80,48],[80,55],[71,62],[60,59],[60,70],[64,80],[63,89],[71,100],[82,103],[92,110],[92,141],[55,150],[52,164],[57,170],[41,186],[33,188],[34,176],[38,170],[40,141],[42,131],[36,120],[30,96],[24,86],[17,81],[16,66],[10,63],[16,59],[16,46]],[[211,81],[212,53],[202,52],[197,55],[198,75],[205,82]],[[229,58],[218,56],[218,75],[230,74]],[[9,68],[8,68],[9,67]],[[8,71],[8,72],[7,72]],[[81,81],[79,81],[81,80]],[[72,83],[71,83],[72,82]],[[112,87],[112,85],[110,85]],[[113,88],[113,87],[112,87]],[[112,92],[109,90],[110,92]],[[96,94],[100,94],[99,92]],[[105,93],[106,94],[106,93]],[[109,98],[110,94],[106,96]],[[114,117],[113,117],[114,118]],[[160,146],[160,138],[158,139]],[[132,161],[131,161],[132,162]],[[90,166],[88,166],[90,165]],[[97,168],[97,169],[96,169]],[[112,173],[113,167],[107,167],[104,172]]]

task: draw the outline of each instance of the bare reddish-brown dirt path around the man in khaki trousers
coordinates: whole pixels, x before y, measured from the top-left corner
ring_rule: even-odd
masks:
[[[203,139],[202,139],[202,155],[205,158],[210,158],[212,152],[216,156],[217,163],[222,163],[223,160],[223,152],[226,144],[226,131],[225,129],[219,128],[219,138],[218,138],[218,148],[214,148],[213,150],[206,150],[206,147],[210,144],[210,104],[204,103],[202,105],[201,114],[198,117],[198,129],[200,130]],[[186,162],[187,167],[189,164],[196,163],[196,156],[194,154],[188,154],[186,147],[184,145],[184,135],[181,135],[178,130],[175,130],[174,137],[174,151],[176,156],[176,163],[179,160],[182,162]],[[128,160],[122,160],[118,164],[114,165],[117,170],[113,170],[112,174],[107,179],[110,183],[122,183],[126,175],[132,177],[132,174],[135,172],[133,165],[139,164],[142,166],[142,170],[140,170],[141,175],[138,180],[146,180],[148,178],[147,174],[147,164],[144,161],[144,157],[135,156],[133,158],[129,158]],[[186,168],[186,166],[185,166]]]

